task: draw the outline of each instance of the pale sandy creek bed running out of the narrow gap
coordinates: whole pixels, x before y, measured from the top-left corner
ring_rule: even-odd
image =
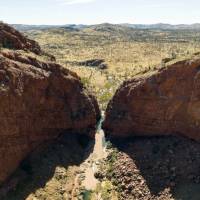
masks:
[[[72,191],[72,197],[85,196],[93,193],[100,181],[96,177],[101,162],[107,157],[106,140],[104,131],[102,129],[102,122],[104,120],[104,112],[101,113],[101,119],[97,124],[94,145],[90,143],[85,152],[84,161],[81,163],[79,173],[77,174]],[[95,195],[95,194],[94,194]]]

